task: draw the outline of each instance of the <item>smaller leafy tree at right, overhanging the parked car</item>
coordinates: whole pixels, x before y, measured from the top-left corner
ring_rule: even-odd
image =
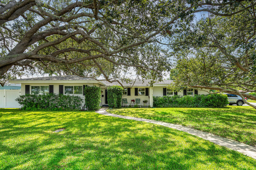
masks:
[[[256,92],[255,33],[255,4],[231,17],[208,15],[200,19],[189,32],[177,36],[176,41],[184,44],[172,46],[179,73],[174,77],[175,86],[256,100],[256,96],[246,93]],[[256,108],[246,100],[244,103]]]

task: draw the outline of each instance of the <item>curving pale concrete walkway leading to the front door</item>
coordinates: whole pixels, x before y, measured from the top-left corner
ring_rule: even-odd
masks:
[[[108,113],[106,111],[107,109],[108,108],[101,108],[100,110],[97,110],[96,112],[101,114],[101,115],[107,115],[107,116],[119,117],[119,118],[123,118],[123,119],[131,119],[131,120],[135,120],[135,121],[154,123],[154,124],[166,126],[168,128],[181,130],[183,132],[187,132],[191,135],[201,137],[205,140],[211,141],[211,142],[213,142],[215,144],[218,144],[220,146],[225,146],[227,148],[230,148],[232,150],[235,150],[237,152],[243,153],[244,155],[247,155],[247,156],[250,156],[250,157],[256,159],[256,148],[253,147],[253,146],[243,144],[243,143],[240,143],[240,142],[236,142],[234,140],[227,139],[227,138],[224,138],[224,137],[220,137],[220,136],[217,136],[217,135],[213,135],[211,133],[203,132],[203,131],[200,131],[200,130],[188,128],[188,127],[181,126],[181,125],[177,125],[177,124],[154,121],[154,120],[137,118],[137,117],[111,114],[111,113]]]

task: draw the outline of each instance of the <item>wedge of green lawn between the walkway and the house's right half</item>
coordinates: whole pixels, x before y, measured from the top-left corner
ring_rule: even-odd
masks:
[[[126,108],[110,113],[169,122],[199,129],[256,146],[256,110],[249,106],[225,108]]]

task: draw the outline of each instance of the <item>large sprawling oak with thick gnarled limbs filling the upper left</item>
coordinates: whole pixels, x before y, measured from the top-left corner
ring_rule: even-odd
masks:
[[[161,80],[168,60],[145,57],[138,50],[154,42],[165,44],[167,35],[173,41],[174,33],[187,30],[197,12],[228,17],[254,5],[234,2],[2,0],[1,82],[37,67],[93,78],[101,74],[109,82],[120,82],[118,73],[135,68],[142,78]]]

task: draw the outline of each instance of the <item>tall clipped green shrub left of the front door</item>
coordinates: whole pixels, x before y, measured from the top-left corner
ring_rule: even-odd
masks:
[[[86,86],[84,88],[85,106],[88,110],[98,110],[100,108],[101,91],[100,87]]]

